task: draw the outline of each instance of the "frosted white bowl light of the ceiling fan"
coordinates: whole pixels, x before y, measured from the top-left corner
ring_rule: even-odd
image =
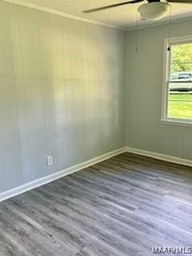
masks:
[[[149,2],[138,7],[138,12],[142,18],[158,20],[166,16],[170,9],[167,2]]]

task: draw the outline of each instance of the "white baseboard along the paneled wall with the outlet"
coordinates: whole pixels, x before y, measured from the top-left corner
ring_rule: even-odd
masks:
[[[69,168],[66,168],[65,170],[60,170],[60,171],[58,171],[54,174],[50,174],[46,177],[38,178],[38,179],[34,180],[33,182],[29,182],[22,186],[15,187],[14,189],[7,190],[0,194],[0,202],[6,200],[8,198],[13,198],[14,196],[16,196],[18,194],[22,194],[26,191],[33,190],[34,188],[36,188],[38,186],[42,186],[42,185],[45,185],[46,183],[53,182],[54,180],[56,180],[58,178],[62,178],[66,175],[73,174],[74,172],[77,172],[78,170],[82,170],[82,169],[85,169],[86,167],[93,166],[94,164],[96,164],[98,162],[102,162],[106,159],[112,158],[115,155],[122,154],[124,152],[126,152],[126,147],[103,154],[96,158],[90,159],[86,162],[82,162],[76,166],[71,166]]]

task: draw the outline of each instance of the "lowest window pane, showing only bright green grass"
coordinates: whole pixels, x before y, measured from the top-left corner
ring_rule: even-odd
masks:
[[[192,119],[192,102],[168,102],[168,118]]]

